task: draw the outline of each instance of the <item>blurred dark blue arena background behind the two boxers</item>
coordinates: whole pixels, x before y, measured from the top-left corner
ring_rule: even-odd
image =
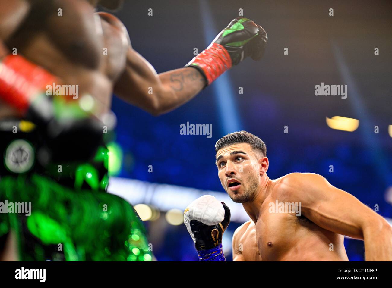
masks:
[[[160,261],[198,260],[182,215],[203,194],[215,195],[232,211],[223,239],[226,258],[232,259],[232,234],[249,218],[220,185],[214,144],[237,130],[265,141],[270,178],[318,173],[392,218],[392,2],[126,1],[116,15],[127,26],[133,48],[159,73],[183,67],[194,48],[205,49],[239,9],[268,33],[263,60],[246,59],[163,116],[113,100],[118,125],[109,190],[133,205],[149,205],[136,208],[149,219],[149,241]],[[289,55],[283,54],[285,47]],[[348,85],[347,99],[315,96],[314,86],[321,82]],[[333,116],[359,120],[358,129],[332,129],[340,121],[328,126]],[[180,125],[187,122],[212,124],[212,137],[180,135]],[[356,123],[349,122],[348,129]],[[363,241],[346,238],[345,247],[351,261],[364,259]]]

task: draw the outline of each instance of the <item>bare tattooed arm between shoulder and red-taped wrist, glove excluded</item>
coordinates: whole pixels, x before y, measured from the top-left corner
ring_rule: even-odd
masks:
[[[152,115],[169,112],[196,96],[205,78],[192,67],[157,74],[152,65],[131,47],[127,65],[114,94]]]

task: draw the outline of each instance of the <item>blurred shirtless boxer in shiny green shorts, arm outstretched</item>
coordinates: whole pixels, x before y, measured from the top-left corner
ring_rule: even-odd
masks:
[[[26,193],[29,193],[29,195],[23,197],[24,199],[26,197],[27,199],[34,198],[42,191],[42,189],[37,188],[37,185],[42,185],[42,187],[47,187],[46,193],[50,191],[45,195],[49,198],[54,197],[55,191],[64,190],[62,191],[64,199],[61,203],[56,204],[59,207],[64,206],[64,211],[67,211],[66,207],[80,205],[81,203],[76,200],[78,197],[69,188],[105,191],[108,179],[108,151],[104,143],[96,140],[97,135],[91,132],[96,127],[93,127],[91,122],[78,121],[80,117],[88,118],[88,115],[91,114],[95,118],[100,118],[102,114],[107,113],[110,110],[113,91],[128,103],[153,115],[159,115],[189,101],[223,72],[233,65],[237,65],[246,57],[260,60],[263,56],[267,43],[265,31],[251,20],[240,17],[230,22],[229,26],[214,39],[213,43],[193,58],[186,65],[187,67],[157,74],[152,66],[132,49],[128,33],[120,20],[109,13],[94,13],[98,4],[109,9],[115,9],[121,3],[121,0],[0,0],[0,119],[4,120],[0,123],[0,132],[4,134],[1,138],[2,143],[0,143],[1,153],[5,154],[6,159],[12,158],[13,155],[7,157],[7,151],[11,143],[14,143],[15,138],[23,138],[24,140],[23,147],[20,145],[16,147],[18,151],[26,146],[30,147],[31,153],[37,151],[34,158],[36,161],[31,161],[33,166],[27,166],[28,169],[21,170],[21,163],[15,162],[15,157],[12,158],[12,161],[10,160],[15,163],[8,163],[10,165],[7,165],[7,167],[0,167],[0,177],[2,178],[0,194],[3,193],[0,196],[3,197],[5,190],[8,189],[13,191],[13,197],[16,200],[22,197],[17,191],[20,191],[21,187],[29,187],[26,189],[28,190]],[[61,9],[61,15],[59,9]],[[17,55],[12,54],[16,52],[14,48],[17,49]],[[42,67],[44,70],[38,69],[38,67]],[[54,80],[56,85],[78,85],[80,94],[78,99],[73,100],[66,95],[57,95],[60,97],[53,97],[55,99],[52,102],[51,97],[45,98],[47,96],[45,95],[47,90],[45,84],[52,84]],[[64,102],[59,98],[69,101]],[[58,103],[61,106],[60,109],[56,110],[56,107],[59,107]],[[64,113],[64,111],[69,112],[69,114]],[[86,112],[87,116],[83,112]],[[64,123],[64,118],[69,118],[70,115],[71,118],[76,119],[74,122],[77,125],[70,125],[67,121]],[[69,120],[68,118],[67,120]],[[36,125],[34,126],[34,124]],[[18,127],[18,134],[13,135],[11,131],[14,126]],[[75,126],[77,129],[74,129]],[[40,130],[40,132],[36,132],[37,130]],[[62,136],[60,140],[57,135],[59,133]],[[100,137],[102,137],[102,130],[100,133]],[[40,153],[42,138],[44,138],[44,144],[49,147],[49,149],[45,148],[45,153]],[[71,142],[72,145],[70,145]],[[59,147],[62,149],[58,149]],[[77,149],[74,149],[75,147]],[[81,152],[81,147],[87,149]],[[15,145],[13,149],[16,151]],[[78,152],[74,152],[74,150]],[[59,176],[59,173],[56,172],[57,168],[53,169],[53,167],[58,167],[58,163],[55,163],[54,159],[69,161],[69,157],[73,157],[76,162],[86,161],[87,157],[86,159],[82,159],[82,157],[90,154],[87,151],[94,154],[93,158],[89,159],[91,162],[67,165],[71,168],[67,170],[67,173],[62,174],[65,177]],[[17,160],[23,160],[25,163],[25,159]],[[47,159],[50,159],[50,161],[47,161]],[[62,163],[64,164],[64,162]],[[72,168],[74,166],[78,168],[75,170]],[[28,178],[27,173],[36,175]],[[48,175],[50,173],[52,175]],[[18,175],[24,178],[17,177]],[[47,178],[42,178],[42,175],[49,176],[50,179],[62,184],[62,186],[56,186]],[[53,214],[49,214],[49,212],[43,215],[36,214],[33,215],[35,218],[29,217],[26,218],[27,220],[6,219],[8,226],[6,225],[7,229],[1,231],[0,250],[2,250],[5,240],[8,241],[5,246],[12,242],[10,240],[12,235],[9,234],[9,231],[17,230],[15,237],[20,247],[22,247],[19,253],[19,259],[22,260],[56,258],[57,256],[53,256],[53,249],[48,252],[49,254],[45,250],[45,246],[56,246],[55,243],[67,243],[64,245],[67,246],[64,252],[65,258],[60,255],[60,258],[65,260],[115,259],[134,261],[140,259],[140,257],[143,259],[143,253],[132,254],[130,252],[134,243],[131,241],[131,237],[128,237],[129,234],[132,235],[133,233],[143,234],[143,232],[140,232],[142,230],[141,225],[135,224],[133,228],[137,227],[137,229],[135,228],[136,232],[129,232],[129,230],[127,232],[127,227],[123,226],[138,222],[136,216],[132,215],[133,212],[127,208],[122,200],[109,196],[109,194],[97,193],[95,195],[97,197],[95,200],[99,200],[99,203],[112,201],[112,205],[118,205],[118,209],[113,210],[111,217],[109,217],[112,220],[116,217],[118,219],[109,224],[110,221],[102,221],[102,219],[98,219],[99,217],[96,219],[86,218],[84,219],[86,221],[84,225],[91,225],[91,227],[89,226],[91,231],[99,230],[102,232],[108,229],[106,234],[111,235],[111,237],[97,235],[97,237],[89,239],[89,237],[85,237],[87,235],[77,235],[76,240],[73,237],[76,236],[77,228],[82,225],[76,219],[82,217],[83,214],[78,217],[72,215],[74,219],[72,225],[74,226],[69,227],[70,223],[67,222],[67,219],[70,216],[66,217],[66,214],[56,214],[53,211]],[[84,196],[91,198],[91,195],[83,194]],[[105,200],[100,197],[105,198]],[[37,199],[34,198],[33,200],[36,201]],[[58,198],[52,200],[58,201]],[[94,198],[91,198],[90,201],[83,202],[83,205],[89,206],[89,208],[95,209],[96,213],[100,212],[102,214],[102,208],[101,211],[97,210],[96,206],[98,205],[91,206],[93,202]],[[42,202],[39,203],[42,204]],[[48,209],[52,206],[54,205],[40,207],[40,209],[49,211]],[[120,207],[124,209],[123,214]],[[73,212],[77,213],[77,211]],[[121,215],[125,214],[129,217],[120,219]],[[54,225],[51,222],[53,219],[49,219],[51,218],[49,215],[52,218],[63,217],[62,219],[56,218],[57,228],[62,229],[66,226],[64,231],[72,231],[73,233],[62,234],[62,239],[53,239],[46,235],[45,232],[49,226],[45,225],[52,225],[51,228]],[[10,215],[9,217],[14,216]],[[38,219],[41,220],[37,222]],[[42,221],[42,219],[47,221]],[[20,220],[21,226],[18,220]],[[18,225],[9,229],[10,223],[18,223]],[[35,230],[37,225],[41,224],[44,226]],[[94,225],[98,225],[99,228]],[[116,233],[118,227],[123,229],[120,234]],[[89,229],[86,228],[85,231],[87,230]],[[30,237],[28,241],[25,240],[27,232],[29,233],[28,237]],[[83,234],[83,231],[79,232]],[[143,238],[142,236],[141,238]],[[118,237],[118,239],[114,239],[115,237]],[[127,251],[125,252],[122,251],[122,249],[125,249],[123,237],[126,237],[129,241],[129,247],[126,247]],[[136,239],[136,237],[133,238]],[[31,247],[20,244],[23,243],[23,239],[26,242],[31,241],[33,243],[32,247],[35,247],[34,243],[38,241],[44,248],[41,247],[43,250],[33,251]],[[102,239],[102,241],[97,241],[97,239]],[[81,242],[83,243],[80,244]],[[100,247],[93,247],[89,243],[97,244]],[[107,245],[111,246],[108,248]],[[75,249],[75,247],[82,248]],[[136,245],[136,247],[138,246]],[[146,254],[148,253],[146,252]],[[15,254],[12,255],[15,256]],[[151,257],[145,257],[145,259],[151,259]]]

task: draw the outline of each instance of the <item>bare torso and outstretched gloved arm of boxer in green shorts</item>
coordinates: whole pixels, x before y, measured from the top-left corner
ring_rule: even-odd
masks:
[[[223,72],[250,56],[260,60],[267,43],[264,29],[239,17],[184,68],[157,74],[132,49],[125,26],[112,14],[94,13],[122,1],[1,0],[0,42],[55,75],[59,84],[78,85],[79,94],[110,109],[114,94],[154,115],[168,112],[196,96]],[[5,9],[4,9],[4,8]],[[62,9],[62,16],[58,16]],[[45,57],[43,56],[45,55]],[[1,97],[4,99],[4,97]],[[19,115],[1,105],[0,117]]]

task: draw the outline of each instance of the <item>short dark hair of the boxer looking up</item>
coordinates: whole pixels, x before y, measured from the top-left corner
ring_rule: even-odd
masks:
[[[267,156],[267,147],[264,141],[244,130],[227,134],[216,141],[215,152],[218,152],[223,147],[239,143],[248,143],[252,149],[263,153],[263,156]]]

